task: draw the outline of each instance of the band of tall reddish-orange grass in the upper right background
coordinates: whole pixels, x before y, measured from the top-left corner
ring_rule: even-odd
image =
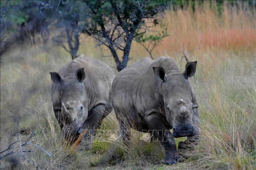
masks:
[[[217,46],[232,50],[256,47],[255,8],[254,12],[249,12],[248,9],[225,4],[222,15],[216,9],[210,8],[206,1],[204,8],[197,8],[195,12],[191,7],[167,12],[163,22],[170,36],[163,40],[155,53],[177,53],[200,45],[204,50]]]

